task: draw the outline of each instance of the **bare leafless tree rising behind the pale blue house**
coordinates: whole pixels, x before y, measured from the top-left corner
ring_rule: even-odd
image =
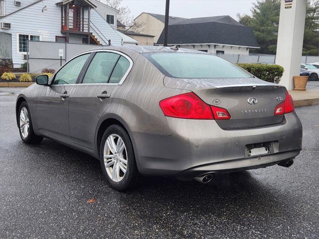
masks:
[[[129,30],[133,27],[135,31],[138,31],[138,29],[143,26],[143,23],[141,22],[137,23],[134,21],[134,16],[131,15],[131,10],[128,6],[121,6],[122,0],[100,0],[100,1],[119,11],[117,14],[117,20],[121,22],[123,25],[125,25],[126,30]]]

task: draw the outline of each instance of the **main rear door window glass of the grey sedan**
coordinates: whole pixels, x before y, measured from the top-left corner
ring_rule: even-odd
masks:
[[[98,52],[91,61],[82,84],[107,83],[121,55],[113,52]]]

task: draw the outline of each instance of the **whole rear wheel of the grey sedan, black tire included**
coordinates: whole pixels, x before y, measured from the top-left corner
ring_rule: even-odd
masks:
[[[105,130],[100,161],[104,179],[111,188],[125,191],[134,187],[139,172],[130,136],[123,127],[113,124]]]

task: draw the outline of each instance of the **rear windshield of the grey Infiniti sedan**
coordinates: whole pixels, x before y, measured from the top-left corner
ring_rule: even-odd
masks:
[[[240,67],[218,57],[199,53],[147,53],[145,56],[173,78],[251,78]]]

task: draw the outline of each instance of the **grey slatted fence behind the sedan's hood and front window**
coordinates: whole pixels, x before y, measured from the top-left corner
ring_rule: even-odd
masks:
[[[100,45],[29,41],[27,61],[30,73],[41,73],[43,69],[58,70],[61,65],[81,52],[105,47]]]

